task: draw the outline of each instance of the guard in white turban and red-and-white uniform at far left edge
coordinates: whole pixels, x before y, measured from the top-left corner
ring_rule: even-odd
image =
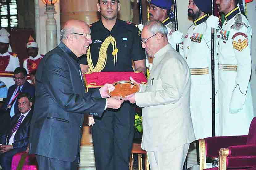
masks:
[[[19,67],[17,54],[9,50],[9,36],[4,28],[0,30],[0,81],[5,82],[7,88],[14,85],[13,75],[9,72],[14,72]]]

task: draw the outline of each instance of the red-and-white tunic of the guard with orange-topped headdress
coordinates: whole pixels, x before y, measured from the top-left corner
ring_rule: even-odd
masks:
[[[23,61],[23,67],[27,70],[27,73],[31,73],[35,69],[37,69],[40,60],[43,58],[43,54],[37,54],[35,58],[28,57]]]

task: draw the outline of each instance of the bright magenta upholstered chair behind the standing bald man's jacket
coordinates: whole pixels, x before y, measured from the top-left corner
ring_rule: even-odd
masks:
[[[38,170],[35,155],[28,154],[28,148],[25,152],[20,152],[12,157],[11,170]]]

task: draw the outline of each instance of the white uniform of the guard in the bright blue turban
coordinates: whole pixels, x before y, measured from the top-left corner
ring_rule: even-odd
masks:
[[[171,43],[171,35],[175,31],[175,24],[171,22],[171,19],[169,17],[163,20],[162,23],[165,25],[168,31],[168,34],[167,34],[168,42],[171,44],[172,48],[176,49],[176,44]],[[183,53],[182,44],[183,43],[179,44],[179,48],[180,48],[180,55],[183,56],[184,53]]]

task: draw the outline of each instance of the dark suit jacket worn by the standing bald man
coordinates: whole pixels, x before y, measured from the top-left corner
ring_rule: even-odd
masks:
[[[66,45],[48,52],[36,72],[30,153],[73,162],[79,151],[83,114],[101,116],[106,100],[85,93],[78,58]]]

